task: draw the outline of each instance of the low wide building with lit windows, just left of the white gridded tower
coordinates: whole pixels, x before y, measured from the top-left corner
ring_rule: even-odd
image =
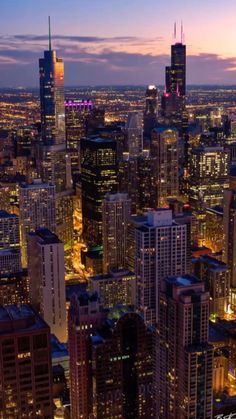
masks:
[[[90,276],[88,290],[99,295],[104,308],[135,306],[136,277],[126,269],[112,269],[108,274]]]

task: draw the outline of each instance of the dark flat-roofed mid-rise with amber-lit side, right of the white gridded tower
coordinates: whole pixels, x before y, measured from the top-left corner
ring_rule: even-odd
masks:
[[[230,303],[230,271],[228,266],[211,256],[203,255],[193,259],[193,273],[209,292],[210,314],[223,318]]]

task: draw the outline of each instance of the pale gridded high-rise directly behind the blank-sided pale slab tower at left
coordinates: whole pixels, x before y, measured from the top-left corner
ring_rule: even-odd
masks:
[[[19,191],[22,264],[27,263],[27,234],[45,227],[55,231],[55,186],[36,179]]]

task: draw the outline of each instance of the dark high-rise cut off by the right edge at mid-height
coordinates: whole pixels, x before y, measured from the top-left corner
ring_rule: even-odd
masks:
[[[236,308],[236,190],[224,192],[223,214],[223,260],[230,269],[230,287],[232,308]]]

